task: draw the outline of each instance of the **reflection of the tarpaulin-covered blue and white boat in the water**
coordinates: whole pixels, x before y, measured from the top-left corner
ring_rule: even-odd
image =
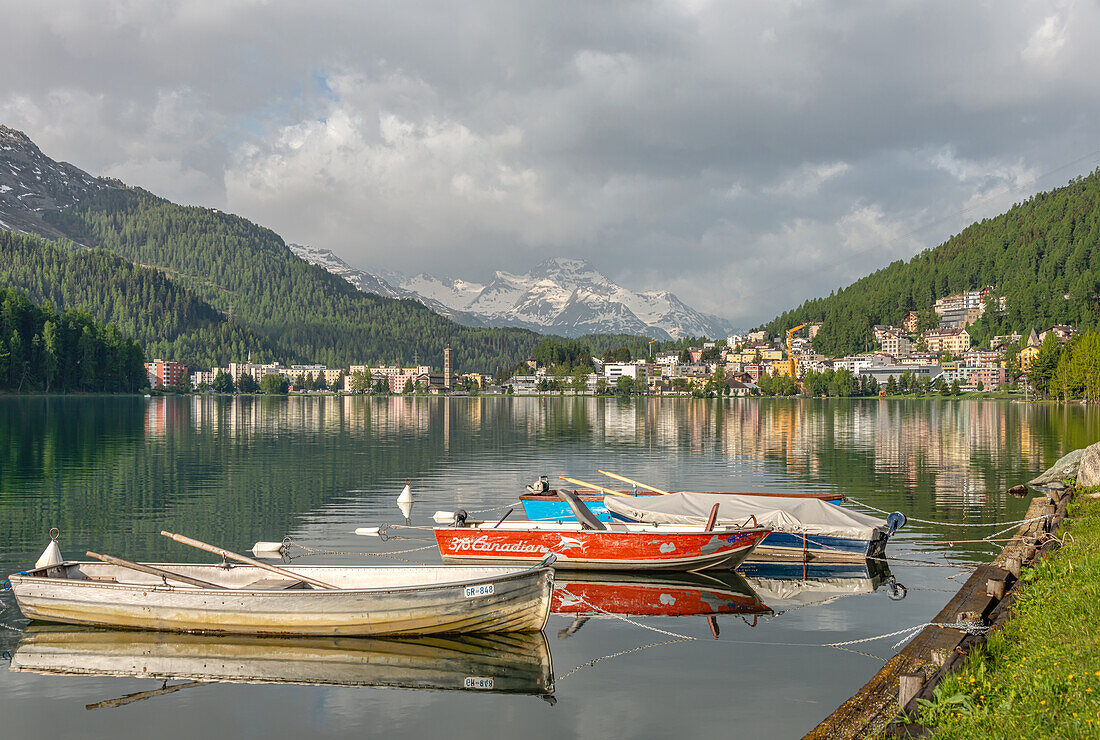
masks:
[[[741,563],[739,572],[776,615],[805,606],[824,606],[845,596],[870,594],[883,585],[890,598],[905,598],[905,587],[897,583],[890,567],[881,560],[857,563],[751,561]]]

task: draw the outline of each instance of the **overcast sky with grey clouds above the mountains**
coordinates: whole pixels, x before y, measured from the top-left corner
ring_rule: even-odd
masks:
[[[749,325],[1100,163],[1096,2],[0,0],[0,123],[365,269]]]

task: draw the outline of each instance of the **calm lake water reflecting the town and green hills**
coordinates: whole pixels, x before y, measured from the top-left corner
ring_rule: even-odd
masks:
[[[1009,486],[1097,439],[1097,409],[1005,401],[0,398],[0,572],[31,565],[51,527],[69,557],[90,549],[204,560],[161,529],[237,551],[289,534],[332,551],[394,553],[427,543],[351,532],[402,521],[395,499],[406,479],[413,523],[428,524],[437,509],[514,501],[540,474],[598,481],[598,468],[661,488],[838,492],[920,519],[1008,521],[1026,509],[1005,496]],[[0,736],[799,737],[893,654],[894,640],[856,645],[861,652],[821,645],[927,621],[957,588],[950,578],[993,553],[947,542],[994,529],[911,522],[888,551],[899,560],[884,568],[748,567],[744,579],[653,587],[669,610],[703,592],[732,594],[725,607],[708,603],[726,611],[715,618],[717,639],[703,616],[553,615],[548,648],[528,641],[498,651],[520,688],[530,678],[529,694],[517,695],[462,691],[468,670],[484,674],[474,655],[418,674],[427,685],[418,689],[207,683],[112,706],[162,682],[7,670],[34,629],[24,633],[3,594]],[[432,549],[395,556],[438,562]],[[296,562],[364,561],[395,562]],[[594,598],[583,585],[566,588]],[[157,639],[164,644],[144,650],[186,652],[172,636]],[[341,660],[383,660],[377,645],[364,650],[338,648],[309,680],[340,683]],[[440,664],[449,649],[388,650],[384,675],[393,680]],[[285,655],[262,645],[238,658],[245,671],[277,674]],[[552,696],[538,695],[540,670],[556,677]]]

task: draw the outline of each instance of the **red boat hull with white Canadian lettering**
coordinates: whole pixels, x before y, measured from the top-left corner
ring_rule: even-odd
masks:
[[[514,522],[435,532],[446,563],[535,563],[554,553],[554,568],[701,571],[737,567],[770,530],[607,531]]]

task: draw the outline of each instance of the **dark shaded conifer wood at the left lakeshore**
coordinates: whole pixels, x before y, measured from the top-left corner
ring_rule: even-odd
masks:
[[[147,385],[144,362],[117,327],[0,288],[0,389],[133,391]]]

